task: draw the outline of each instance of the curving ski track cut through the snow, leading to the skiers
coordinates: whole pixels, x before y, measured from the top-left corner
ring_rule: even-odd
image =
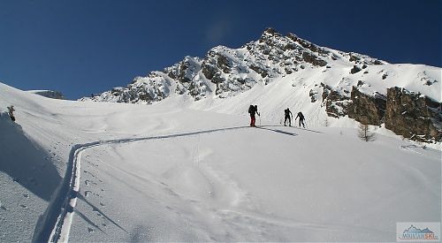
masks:
[[[268,130],[275,133],[284,133],[286,135],[292,135],[292,136],[297,135],[296,133],[286,133],[279,130],[264,128],[266,126],[275,126],[275,125],[260,125],[257,126],[256,128],[261,128],[263,130]],[[246,128],[251,128],[251,127],[233,126],[233,127],[217,128],[217,129],[210,129],[204,131],[175,133],[175,134],[158,135],[151,137],[98,140],[84,144],[74,145],[69,155],[69,162],[67,165],[65,178],[62,184],[58,187],[56,196],[50,201],[50,205],[46,209],[45,213],[42,216],[40,216],[37,226],[35,227],[34,230],[33,242],[57,242],[60,239],[61,241],[68,240],[72,224],[73,209],[77,202],[77,194],[80,191],[81,154],[85,150],[89,148],[95,148],[98,146],[115,144],[115,143],[130,143],[141,140],[170,139],[170,138],[198,135],[202,133],[225,132],[230,130],[238,130]],[[316,132],[316,131],[311,131],[311,132]]]

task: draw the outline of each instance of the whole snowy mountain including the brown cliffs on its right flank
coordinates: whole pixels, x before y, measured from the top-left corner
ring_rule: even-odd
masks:
[[[257,86],[269,96],[275,91],[265,87],[281,84],[287,92],[272,95],[286,95],[282,105],[287,107],[294,103],[300,110],[318,110],[317,120],[353,118],[385,125],[412,140],[440,141],[440,72],[438,67],[392,65],[320,47],[295,34],[267,28],[259,40],[240,49],[217,46],[206,57],[185,57],[164,71],[136,77],[127,87],[81,100],[149,104],[175,95],[186,95],[194,102],[228,100]]]

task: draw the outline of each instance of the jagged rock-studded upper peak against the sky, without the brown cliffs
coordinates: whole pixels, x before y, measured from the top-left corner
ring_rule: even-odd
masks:
[[[90,99],[102,102],[153,103],[171,94],[191,95],[201,100],[208,95],[220,98],[238,95],[255,86],[298,72],[306,67],[386,64],[357,53],[344,53],[317,46],[295,34],[279,34],[266,28],[258,41],[240,49],[217,46],[206,57],[184,57],[163,72],[137,77],[127,87],[113,88]],[[173,89],[173,91],[171,91]],[[83,98],[82,100],[88,100]]]

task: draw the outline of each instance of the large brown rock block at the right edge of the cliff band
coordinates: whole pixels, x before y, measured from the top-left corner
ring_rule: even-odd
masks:
[[[385,128],[405,138],[419,141],[442,140],[441,103],[408,92],[404,88],[387,90]]]

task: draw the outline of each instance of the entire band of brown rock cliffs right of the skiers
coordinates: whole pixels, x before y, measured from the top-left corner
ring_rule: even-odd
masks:
[[[410,140],[442,140],[441,103],[405,88],[391,87],[387,95],[366,95],[353,87],[350,98],[324,87],[323,103],[329,117],[348,118],[368,125],[381,125]],[[311,91],[310,91],[311,92]],[[313,102],[313,100],[312,100]]]

